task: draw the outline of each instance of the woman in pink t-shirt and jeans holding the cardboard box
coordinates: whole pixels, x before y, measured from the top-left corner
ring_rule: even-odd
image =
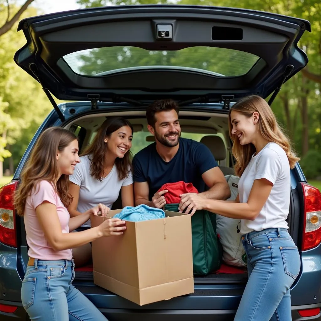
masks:
[[[121,235],[126,226],[120,219],[109,219],[98,227],[70,233],[91,215],[108,213],[105,205],[98,204],[70,218],[66,208],[72,201],[69,175],[79,162],[76,136],[51,127],[40,135],[21,175],[14,203],[18,215],[23,215],[29,246],[21,298],[31,320],[106,320],[72,285],[71,248],[101,236]]]

